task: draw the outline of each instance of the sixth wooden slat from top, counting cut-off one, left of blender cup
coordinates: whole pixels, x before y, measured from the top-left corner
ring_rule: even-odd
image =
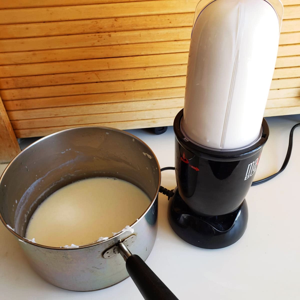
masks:
[[[156,67],[187,63],[188,52],[0,66],[1,77]]]

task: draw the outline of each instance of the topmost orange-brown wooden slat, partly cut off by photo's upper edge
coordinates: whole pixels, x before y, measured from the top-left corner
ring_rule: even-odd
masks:
[[[68,5],[134,2],[134,1],[147,1],[147,0],[60,0],[60,1],[57,1],[57,0],[1,0],[0,9],[68,6]],[[296,1],[296,0],[285,0],[285,1]]]

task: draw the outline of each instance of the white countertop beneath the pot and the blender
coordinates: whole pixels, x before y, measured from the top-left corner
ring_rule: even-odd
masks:
[[[291,127],[300,116],[268,118],[270,137],[256,180],[275,173],[284,160]],[[174,166],[173,128],[162,135],[130,130],[156,154],[161,167]],[[251,187],[246,197],[249,220],[242,238],[218,250],[181,240],[167,220],[167,197],[159,196],[158,235],[147,264],[180,299],[300,298],[300,128],[294,133],[286,170],[269,182]],[[0,165],[0,173],[4,165]],[[175,187],[174,171],[164,171],[164,187]],[[131,278],[107,289],[71,292],[52,286],[30,268],[13,235],[0,224],[1,299],[142,299]]]

